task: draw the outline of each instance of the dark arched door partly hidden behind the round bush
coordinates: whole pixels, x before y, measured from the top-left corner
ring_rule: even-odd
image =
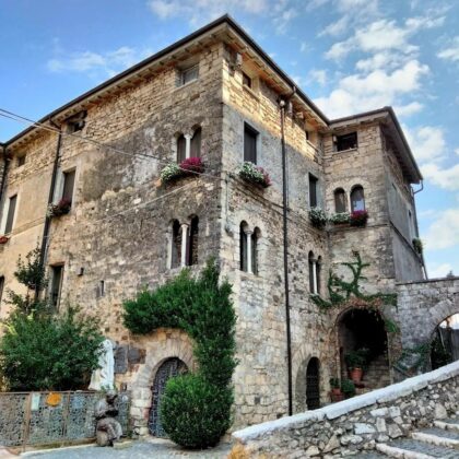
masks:
[[[160,405],[166,382],[169,378],[188,373],[187,365],[180,358],[173,357],[164,361],[157,368],[156,376],[153,382],[152,408],[149,416],[149,432],[156,437],[166,437],[163,425],[160,419]]]

